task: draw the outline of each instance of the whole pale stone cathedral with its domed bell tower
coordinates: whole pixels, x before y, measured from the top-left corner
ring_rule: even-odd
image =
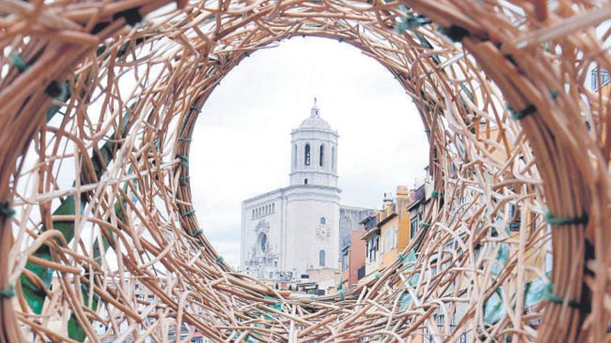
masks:
[[[290,281],[337,270],[341,238],[371,213],[340,204],[338,138],[315,103],[291,132],[290,185],[242,202],[242,272]]]

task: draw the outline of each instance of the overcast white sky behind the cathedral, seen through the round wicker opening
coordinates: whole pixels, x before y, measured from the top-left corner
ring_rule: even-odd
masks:
[[[193,133],[194,208],[225,260],[240,261],[242,200],[288,186],[290,132],[310,116],[340,134],[342,204],[380,207],[423,179],[428,142],[412,100],[376,60],[330,39],[296,37],[252,53],[215,89]]]

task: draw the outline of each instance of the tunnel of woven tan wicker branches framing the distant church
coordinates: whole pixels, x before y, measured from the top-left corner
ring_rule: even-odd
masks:
[[[609,1],[3,0],[0,12],[0,342],[163,342],[183,324],[218,342],[413,342],[425,328],[435,342],[608,340],[610,107],[585,77],[611,70],[594,33]],[[328,297],[233,272],[188,180],[210,92],[301,35],[396,76],[435,179],[427,229],[401,258]]]

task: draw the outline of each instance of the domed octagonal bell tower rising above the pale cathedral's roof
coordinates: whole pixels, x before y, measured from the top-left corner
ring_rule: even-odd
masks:
[[[320,117],[314,98],[310,117],[291,132],[291,186],[337,187],[337,131]]]

